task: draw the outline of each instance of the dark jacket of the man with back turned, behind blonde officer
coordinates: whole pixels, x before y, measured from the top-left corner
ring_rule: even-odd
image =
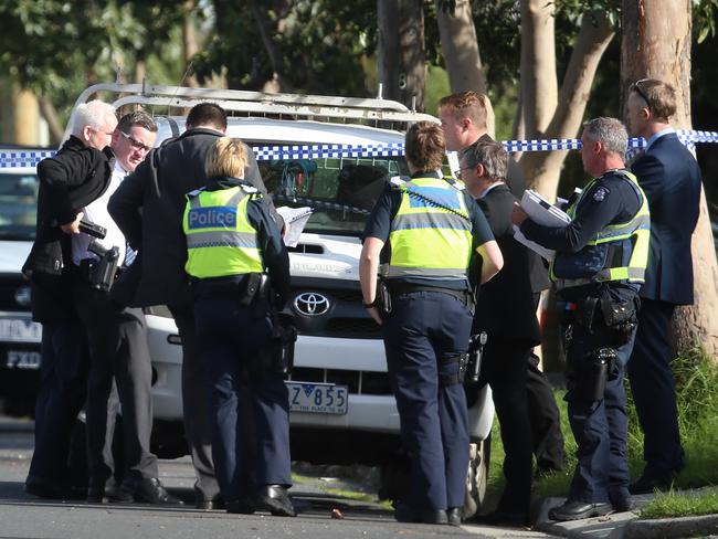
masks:
[[[113,287],[117,302],[133,307],[191,302],[184,273],[184,195],[208,183],[204,158],[222,136],[212,129],[196,128],[166,140],[110,197],[109,214],[129,244],[140,252]],[[252,151],[244,178],[267,194]],[[272,204],[271,211],[281,230],[283,222]]]

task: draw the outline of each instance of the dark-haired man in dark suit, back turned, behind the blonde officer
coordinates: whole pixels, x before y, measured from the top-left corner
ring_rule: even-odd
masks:
[[[212,464],[207,374],[198,356],[181,223],[184,195],[207,184],[207,152],[225,131],[226,113],[222,107],[212,103],[196,105],[187,116],[187,130],[150,151],[107,205],[130,246],[140,253],[120,277],[117,297],[135,307],[167,305],[179,329],[184,435],[197,473],[196,505],[203,509],[218,506],[221,498]],[[252,151],[247,152],[244,178],[267,195]],[[282,229],[282,219],[273,205],[271,211]]]

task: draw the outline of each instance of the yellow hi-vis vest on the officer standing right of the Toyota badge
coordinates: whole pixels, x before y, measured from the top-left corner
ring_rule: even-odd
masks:
[[[466,279],[472,222],[463,192],[439,178],[414,178],[399,189],[401,204],[391,222],[391,261],[387,276]]]

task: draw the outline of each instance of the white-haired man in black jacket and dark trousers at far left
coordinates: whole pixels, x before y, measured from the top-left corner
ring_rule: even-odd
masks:
[[[55,156],[38,165],[35,241],[22,268],[32,287],[33,320],[42,324],[41,382],[35,404],[35,451],[25,492],[41,498],[73,497],[67,468],[70,437],[85,402],[87,351],[72,300],[71,234],[80,209],[109,184],[114,157],[108,148],[117,126],[115,109],[101,101],[77,107],[72,135]]]

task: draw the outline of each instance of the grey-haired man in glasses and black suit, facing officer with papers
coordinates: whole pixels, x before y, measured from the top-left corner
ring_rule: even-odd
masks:
[[[504,254],[504,268],[482,286],[474,334],[486,331],[482,381],[492,387],[506,451],[506,488],[492,524],[526,525],[531,497],[531,425],[528,413],[528,358],[541,341],[529,279],[529,257],[514,240],[511,211],[516,197],[506,184],[508,154],[499,142],[479,140],[461,156],[461,177],[477,199]]]

